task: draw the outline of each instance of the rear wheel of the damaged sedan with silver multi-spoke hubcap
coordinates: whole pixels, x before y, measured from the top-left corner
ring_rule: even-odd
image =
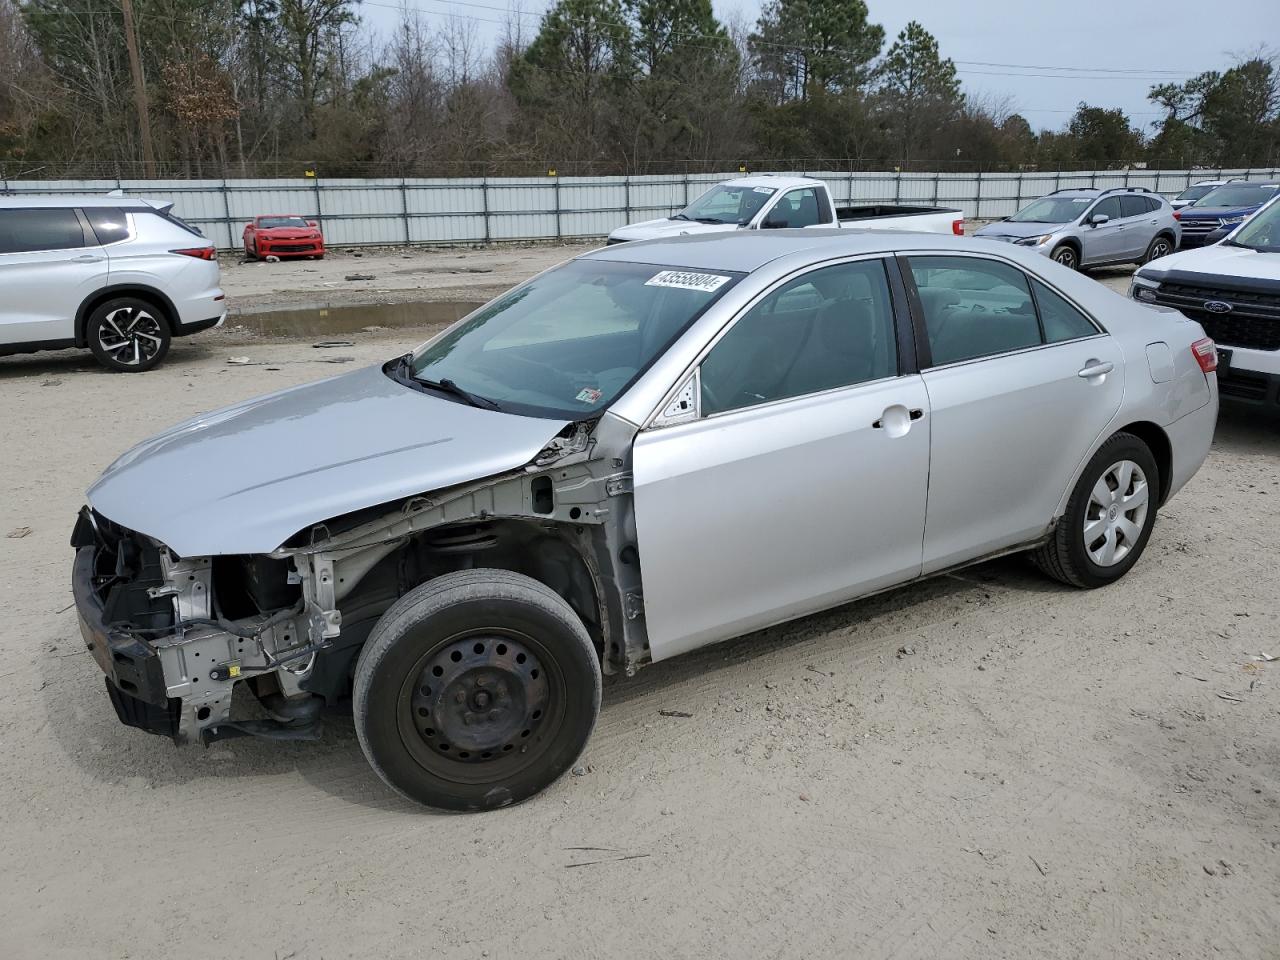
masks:
[[[1053,536],[1032,559],[1071,586],[1114,584],[1147,548],[1158,492],[1151,448],[1133,434],[1115,434],[1089,460]]]

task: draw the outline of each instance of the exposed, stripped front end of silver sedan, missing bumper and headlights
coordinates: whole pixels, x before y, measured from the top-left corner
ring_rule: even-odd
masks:
[[[332,570],[178,557],[88,507],[72,547],[81,634],[122,723],[179,744],[319,736],[324,698],[302,684],[339,632]],[[238,684],[257,709],[232,719]]]

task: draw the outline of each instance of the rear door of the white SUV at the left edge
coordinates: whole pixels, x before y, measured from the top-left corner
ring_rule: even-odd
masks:
[[[70,340],[106,255],[70,207],[0,210],[0,343]]]

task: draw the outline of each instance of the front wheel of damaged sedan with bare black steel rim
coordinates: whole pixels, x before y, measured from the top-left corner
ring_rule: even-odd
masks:
[[[356,666],[356,736],[388,786],[445,810],[517,804],[586,746],[600,663],[573,609],[503,570],[447,573],[404,594]]]

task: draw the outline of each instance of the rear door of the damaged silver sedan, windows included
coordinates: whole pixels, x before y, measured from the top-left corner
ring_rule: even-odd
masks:
[[[911,256],[932,410],[924,573],[1041,536],[1124,393],[1120,348],[1076,305],[980,256]]]

